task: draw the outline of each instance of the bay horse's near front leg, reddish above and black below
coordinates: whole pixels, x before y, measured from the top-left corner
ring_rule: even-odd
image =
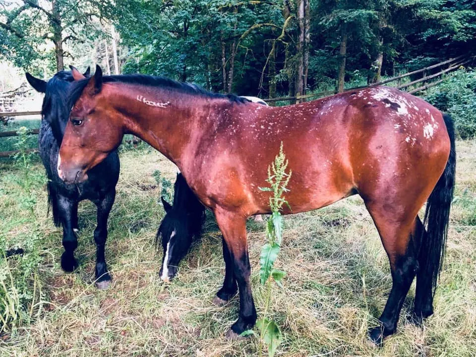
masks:
[[[243,331],[252,328],[256,322],[256,309],[249,284],[251,267],[246,243],[246,218],[219,208],[215,209],[215,217],[227,243],[231,257],[230,265],[233,265],[233,272],[238,283],[238,320],[227,333],[227,338],[234,339]]]

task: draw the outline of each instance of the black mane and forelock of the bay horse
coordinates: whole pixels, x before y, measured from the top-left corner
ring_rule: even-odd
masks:
[[[71,108],[74,103],[79,99],[84,88],[88,84],[89,78],[82,79],[79,81],[73,82],[71,89],[69,91],[69,103]],[[111,75],[103,76],[103,83],[108,82],[118,82],[118,83],[127,83],[127,84],[138,84],[145,85],[150,87],[159,87],[169,90],[175,90],[179,93],[191,94],[207,98],[226,98],[232,103],[248,103],[249,100],[245,98],[238,97],[235,94],[220,94],[212,93],[204,88],[190,83],[182,83],[174,79],[167,77],[156,77],[149,76],[144,74],[123,74],[123,75]]]

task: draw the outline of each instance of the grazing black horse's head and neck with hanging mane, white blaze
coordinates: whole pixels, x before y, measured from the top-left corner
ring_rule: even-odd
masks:
[[[162,197],[166,215],[157,232],[156,241],[162,237],[164,256],[160,277],[171,280],[180,260],[187,254],[194,238],[199,238],[205,221],[205,208],[188,187],[181,174],[174,185],[174,205]]]

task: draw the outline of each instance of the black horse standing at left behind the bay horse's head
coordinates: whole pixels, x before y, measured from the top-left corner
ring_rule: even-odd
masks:
[[[89,68],[84,73],[89,75]],[[74,249],[78,245],[75,232],[78,229],[78,202],[89,199],[98,208],[96,242],[96,287],[105,289],[111,282],[105,259],[108,236],[108,217],[116,196],[119,179],[119,156],[113,151],[98,166],[88,172],[88,179],[78,184],[66,184],[58,177],[58,152],[64,135],[69,110],[67,93],[73,77],[70,71],[56,73],[48,82],[26,73],[26,79],[38,92],[45,93],[41,110],[42,120],[38,136],[41,160],[48,176],[48,209],[53,209],[53,221],[63,226],[64,252],[61,268],[71,272],[77,267]]]

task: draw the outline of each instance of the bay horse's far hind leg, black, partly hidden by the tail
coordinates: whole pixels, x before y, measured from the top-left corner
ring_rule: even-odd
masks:
[[[421,246],[425,246],[425,241],[428,239],[428,234],[421,223],[420,219],[416,217],[416,236],[421,237]],[[422,269],[426,265],[427,251],[420,249],[418,254],[418,264],[421,267],[416,273],[416,291],[415,291],[415,307],[413,313],[413,322],[420,325],[423,319],[433,314],[433,291],[432,282]]]

